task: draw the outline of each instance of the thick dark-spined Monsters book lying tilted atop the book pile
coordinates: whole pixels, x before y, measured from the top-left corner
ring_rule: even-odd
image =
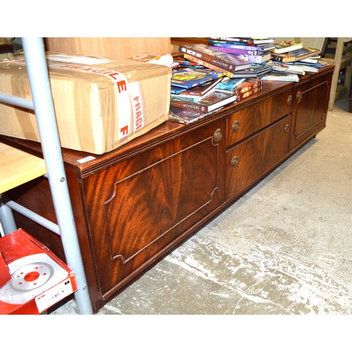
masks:
[[[179,51],[222,68],[230,73],[251,67],[251,63],[205,44],[180,45]]]

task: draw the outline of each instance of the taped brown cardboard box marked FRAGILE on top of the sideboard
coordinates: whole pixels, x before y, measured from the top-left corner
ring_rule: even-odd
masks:
[[[61,146],[102,154],[168,120],[171,69],[46,53]],[[23,56],[0,61],[0,92],[32,99]],[[40,142],[34,112],[0,103],[0,134]]]

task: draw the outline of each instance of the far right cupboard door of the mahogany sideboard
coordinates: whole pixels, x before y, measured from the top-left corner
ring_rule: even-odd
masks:
[[[326,125],[332,74],[318,77],[294,90],[294,118],[290,151],[317,134]]]

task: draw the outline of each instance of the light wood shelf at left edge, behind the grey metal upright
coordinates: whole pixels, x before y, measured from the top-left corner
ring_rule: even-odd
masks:
[[[0,143],[0,194],[45,174],[44,159]]]

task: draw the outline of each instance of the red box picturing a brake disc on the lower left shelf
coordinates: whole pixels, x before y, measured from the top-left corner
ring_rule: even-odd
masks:
[[[0,237],[0,314],[39,314],[77,291],[75,274],[19,229]]]

